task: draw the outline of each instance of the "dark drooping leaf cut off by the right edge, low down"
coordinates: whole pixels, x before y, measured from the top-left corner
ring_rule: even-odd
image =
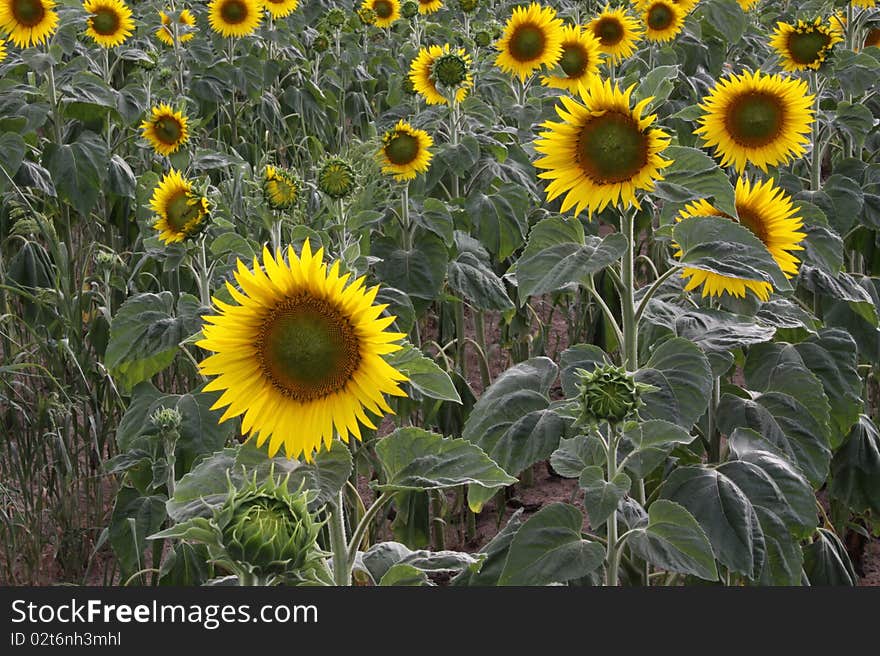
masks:
[[[831,461],[831,496],[854,513],[880,516],[880,431],[861,415]]]

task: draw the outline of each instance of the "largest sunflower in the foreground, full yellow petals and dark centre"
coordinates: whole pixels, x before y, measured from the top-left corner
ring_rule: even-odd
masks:
[[[375,428],[365,410],[381,416],[392,411],[385,394],[405,396],[406,377],[383,358],[404,335],[386,330],[394,317],[373,304],[378,287],[349,282],[323,256],[306,241],[299,256],[288,247],[287,261],[264,249],[262,265],[239,262],[241,291],[227,283],[235,304],[214,300],[198,342],[214,351],[200,369],[216,376],[205,389],[223,392],[220,421],[243,415],[242,431],[258,446],[268,440],[270,456],[283,445],[308,461],[334,434],[359,440],[361,425]]]

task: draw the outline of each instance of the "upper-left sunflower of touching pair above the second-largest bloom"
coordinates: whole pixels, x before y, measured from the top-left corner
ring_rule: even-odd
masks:
[[[513,10],[495,44],[495,65],[525,80],[542,66],[553,66],[562,55],[562,19],[551,7],[533,2]]]

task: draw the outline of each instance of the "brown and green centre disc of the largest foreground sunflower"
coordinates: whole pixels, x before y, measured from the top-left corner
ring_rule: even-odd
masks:
[[[309,294],[276,305],[257,343],[263,373],[299,401],[342,389],[360,365],[360,340],[340,309]]]

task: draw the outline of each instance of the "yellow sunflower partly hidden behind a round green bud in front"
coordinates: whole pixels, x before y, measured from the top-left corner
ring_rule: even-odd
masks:
[[[422,48],[409,68],[413,88],[429,105],[449,102],[444,92],[455,92],[455,102],[462,102],[474,86],[470,73],[471,58],[463,48],[455,50],[447,43],[443,47]]]

